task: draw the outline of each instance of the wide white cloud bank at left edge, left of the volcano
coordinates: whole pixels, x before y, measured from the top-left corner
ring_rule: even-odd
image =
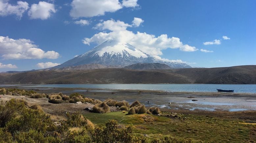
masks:
[[[11,39],[0,36],[0,56],[4,59],[56,59],[60,56],[55,51],[43,51],[29,39]]]

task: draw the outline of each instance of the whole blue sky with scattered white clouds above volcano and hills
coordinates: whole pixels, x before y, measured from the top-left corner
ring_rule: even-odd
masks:
[[[193,67],[256,64],[254,0],[21,1],[0,0],[0,72],[62,64],[106,38]]]

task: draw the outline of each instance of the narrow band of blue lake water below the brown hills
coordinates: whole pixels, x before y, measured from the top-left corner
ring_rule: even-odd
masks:
[[[2,85],[3,86],[3,85]],[[5,85],[6,86],[6,85]],[[12,85],[10,85],[12,86]],[[17,85],[13,85],[17,86]],[[160,90],[167,92],[217,92],[216,89],[234,90],[238,93],[256,93],[256,85],[232,84],[46,84],[18,85],[35,88],[88,88],[105,90]],[[1,85],[0,85],[1,87]]]

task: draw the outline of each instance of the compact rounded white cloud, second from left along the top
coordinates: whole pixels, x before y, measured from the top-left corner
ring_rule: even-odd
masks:
[[[32,4],[28,15],[31,19],[48,19],[52,13],[55,13],[54,4],[39,1],[38,4]]]

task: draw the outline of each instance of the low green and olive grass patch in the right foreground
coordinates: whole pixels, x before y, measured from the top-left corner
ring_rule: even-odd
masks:
[[[216,117],[179,114],[178,116],[181,117],[179,119],[146,113],[125,114],[122,112],[108,112],[84,115],[93,123],[99,125],[104,125],[110,119],[115,119],[124,125],[133,124],[135,133],[147,134],[151,139],[156,136],[171,135],[205,142],[247,142],[251,132],[248,125]]]

